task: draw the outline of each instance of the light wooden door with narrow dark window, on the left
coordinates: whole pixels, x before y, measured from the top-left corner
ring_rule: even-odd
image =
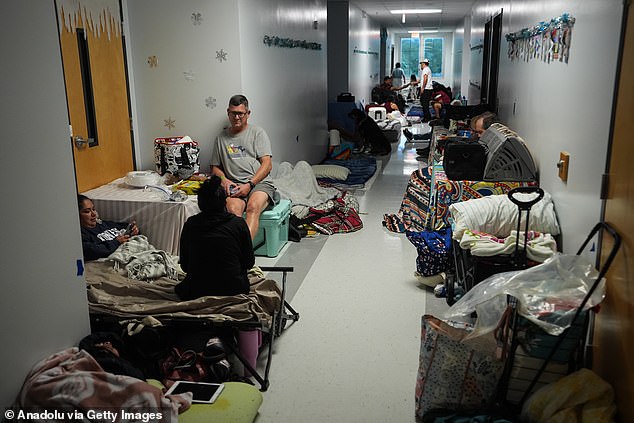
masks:
[[[78,192],[134,169],[119,4],[112,3],[116,11],[95,14],[57,1]],[[89,142],[77,144],[77,137]]]

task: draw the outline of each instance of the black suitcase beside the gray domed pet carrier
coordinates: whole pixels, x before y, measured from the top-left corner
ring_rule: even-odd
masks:
[[[480,181],[484,176],[487,151],[484,144],[466,138],[449,138],[445,142],[443,166],[447,179]]]

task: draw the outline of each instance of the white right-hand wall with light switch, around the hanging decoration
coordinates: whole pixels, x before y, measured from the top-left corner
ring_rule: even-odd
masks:
[[[503,122],[527,142],[540,184],[554,198],[564,252],[575,252],[600,219],[601,175],[606,162],[616,72],[620,0],[479,1],[474,30],[503,7],[498,95]],[[569,62],[511,62],[504,35],[568,12],[576,18]],[[472,38],[474,30],[472,30]],[[570,153],[568,182],[557,177],[559,152]]]

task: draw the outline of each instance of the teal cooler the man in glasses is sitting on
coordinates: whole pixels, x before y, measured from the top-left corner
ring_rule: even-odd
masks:
[[[260,227],[253,239],[256,256],[277,257],[288,242],[288,218],[291,214],[291,202],[280,200],[272,209],[260,215]]]

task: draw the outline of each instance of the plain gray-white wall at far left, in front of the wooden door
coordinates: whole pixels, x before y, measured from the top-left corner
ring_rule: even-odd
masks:
[[[0,175],[5,199],[0,406],[36,361],[89,333],[81,236],[54,2],[0,3]]]

